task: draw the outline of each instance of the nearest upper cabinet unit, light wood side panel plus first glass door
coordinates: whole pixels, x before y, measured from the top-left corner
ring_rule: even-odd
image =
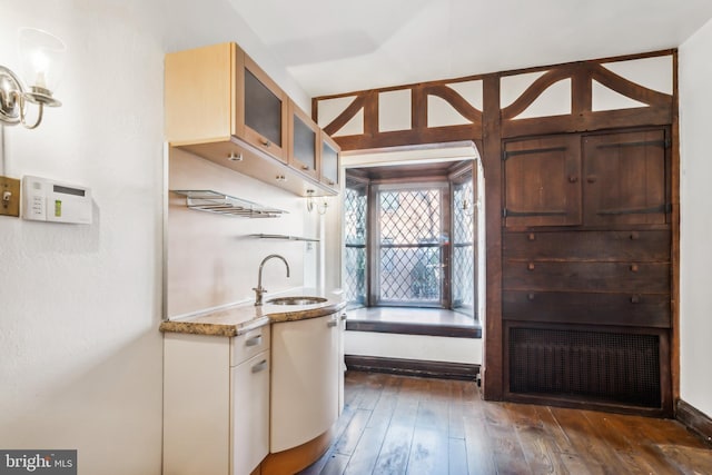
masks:
[[[171,145],[240,137],[286,159],[288,100],[235,43],[166,55],[166,138]]]

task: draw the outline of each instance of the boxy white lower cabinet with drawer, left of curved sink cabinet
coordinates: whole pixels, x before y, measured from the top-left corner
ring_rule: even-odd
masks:
[[[267,456],[269,337],[164,335],[164,475],[248,475]]]

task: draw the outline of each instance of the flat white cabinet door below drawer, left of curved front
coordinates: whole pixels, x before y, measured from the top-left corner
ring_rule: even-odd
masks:
[[[233,475],[247,475],[269,453],[269,350],[233,367]]]

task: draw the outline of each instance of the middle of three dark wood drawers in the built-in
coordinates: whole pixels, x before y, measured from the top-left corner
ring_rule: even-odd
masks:
[[[506,290],[670,294],[670,265],[507,260],[502,286]]]

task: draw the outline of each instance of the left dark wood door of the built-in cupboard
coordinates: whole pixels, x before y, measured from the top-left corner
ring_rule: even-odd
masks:
[[[506,226],[581,224],[578,136],[505,142],[503,159]]]

